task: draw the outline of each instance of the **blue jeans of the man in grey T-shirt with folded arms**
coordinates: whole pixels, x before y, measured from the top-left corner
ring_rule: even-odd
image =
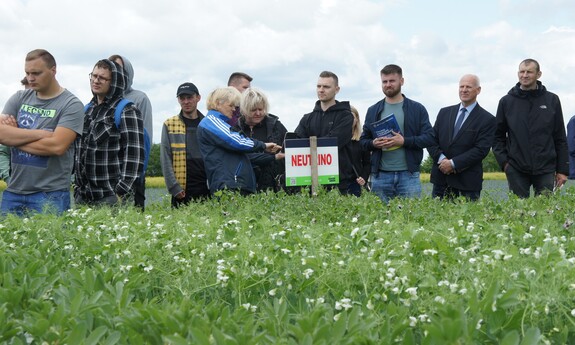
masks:
[[[70,191],[37,192],[32,194],[16,194],[4,191],[0,213],[14,213],[26,216],[32,212],[62,214],[70,208]]]

